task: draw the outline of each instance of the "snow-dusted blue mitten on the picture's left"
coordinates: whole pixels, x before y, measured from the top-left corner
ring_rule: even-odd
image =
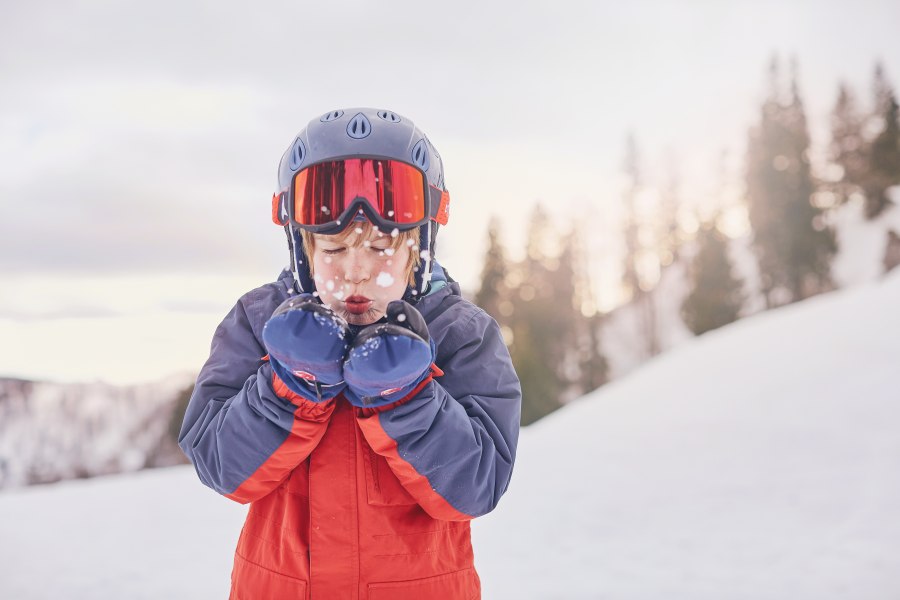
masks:
[[[322,402],[344,389],[347,322],[312,294],[282,302],[263,327],[263,343],[272,370],[291,391]]]

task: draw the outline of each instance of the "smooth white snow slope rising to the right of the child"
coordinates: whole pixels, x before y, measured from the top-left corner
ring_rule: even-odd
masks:
[[[690,340],[523,432],[486,598],[900,597],[900,273]]]

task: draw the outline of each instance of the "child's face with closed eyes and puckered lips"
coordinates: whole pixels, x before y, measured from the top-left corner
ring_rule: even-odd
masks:
[[[384,316],[388,303],[403,297],[410,248],[394,250],[391,236],[374,227],[351,231],[344,239],[313,236],[316,289],[322,302],[348,323],[369,325]]]

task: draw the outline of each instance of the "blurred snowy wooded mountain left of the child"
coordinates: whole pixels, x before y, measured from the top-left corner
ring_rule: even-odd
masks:
[[[0,379],[0,489],[184,462],[179,375],[144,385]]]

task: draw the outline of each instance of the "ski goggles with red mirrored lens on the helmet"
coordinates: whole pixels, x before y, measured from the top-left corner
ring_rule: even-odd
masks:
[[[450,194],[425,173],[397,160],[345,158],[310,165],[272,197],[272,221],[312,233],[337,233],[361,216],[380,229],[412,229],[434,219],[444,225]]]

